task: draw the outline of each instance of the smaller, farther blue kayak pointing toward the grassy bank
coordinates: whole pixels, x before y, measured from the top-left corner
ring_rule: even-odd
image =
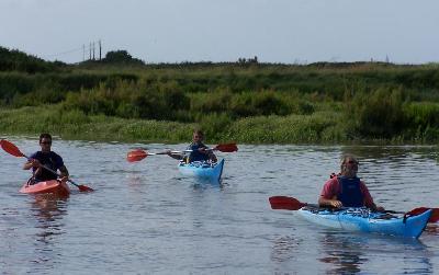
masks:
[[[178,165],[181,174],[211,182],[219,182],[221,175],[223,174],[223,168],[224,159],[216,163],[194,161],[191,163],[180,162]]]

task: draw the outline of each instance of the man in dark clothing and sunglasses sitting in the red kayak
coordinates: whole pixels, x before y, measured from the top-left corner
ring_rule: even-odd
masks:
[[[33,184],[57,179],[57,175],[55,173],[48,171],[47,169],[44,169],[43,165],[52,169],[53,171],[59,170],[61,180],[66,181],[69,173],[66,165],[64,164],[63,158],[50,150],[52,136],[46,133],[41,134],[40,146],[42,148],[41,151],[33,153],[30,157],[30,160],[26,161],[26,163],[24,163],[23,165],[24,170],[30,170],[31,168],[33,170],[33,176],[31,179],[32,181],[30,181],[30,183]]]

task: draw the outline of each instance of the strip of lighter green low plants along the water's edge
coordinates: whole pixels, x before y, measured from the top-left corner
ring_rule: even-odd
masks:
[[[195,124],[87,116],[80,111],[64,111],[61,105],[45,105],[1,110],[0,133],[36,137],[48,131],[67,140],[170,144],[187,142],[192,129],[201,127],[207,133],[210,144],[429,144],[404,137],[352,138],[341,116],[337,112],[322,111],[311,115],[248,117],[221,125],[221,121]]]

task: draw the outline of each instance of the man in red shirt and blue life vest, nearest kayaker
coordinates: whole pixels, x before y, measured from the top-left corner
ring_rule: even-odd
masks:
[[[331,176],[323,186],[319,206],[330,207],[368,207],[383,211],[376,206],[363,181],[357,176],[359,162],[353,154],[345,154],[340,159],[340,173]]]

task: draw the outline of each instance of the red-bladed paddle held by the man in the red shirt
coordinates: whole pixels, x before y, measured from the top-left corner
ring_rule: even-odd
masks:
[[[315,204],[306,204],[301,203],[299,199],[294,197],[288,196],[272,196],[269,197],[271,209],[284,209],[284,210],[299,210],[304,206],[318,206]],[[431,209],[431,216],[428,219],[428,222],[438,222],[439,221],[439,208],[429,208],[429,207],[418,207],[407,213],[402,211],[393,211],[393,210],[384,210],[385,213],[391,214],[404,214],[405,216],[417,216],[419,214],[425,213],[426,210]]]

